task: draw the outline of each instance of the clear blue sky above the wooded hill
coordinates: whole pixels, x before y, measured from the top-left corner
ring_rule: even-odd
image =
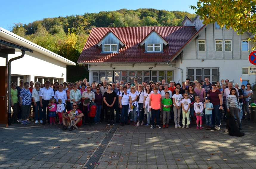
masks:
[[[0,27],[10,30],[14,23],[28,24],[43,18],[53,18],[66,15],[83,15],[86,12],[115,11],[122,8],[136,10],[138,8],[154,8],[158,10],[178,10],[195,13],[190,5],[196,5],[197,0],[13,0],[2,1],[0,8]]]

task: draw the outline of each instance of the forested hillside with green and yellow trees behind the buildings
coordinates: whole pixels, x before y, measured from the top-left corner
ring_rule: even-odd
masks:
[[[93,27],[180,26],[185,16],[193,19],[196,14],[145,8],[137,10],[121,9],[85,13],[84,15],[44,18],[28,24],[16,23],[11,31],[60,56],[77,62]],[[85,73],[80,75],[81,77],[74,78],[73,75],[68,73],[68,81],[88,77],[88,72],[85,71]]]

